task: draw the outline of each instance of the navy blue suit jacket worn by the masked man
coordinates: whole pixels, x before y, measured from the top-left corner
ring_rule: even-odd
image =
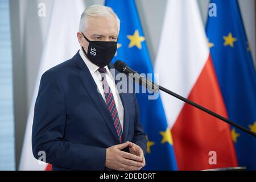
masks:
[[[122,142],[134,142],[146,154],[147,140],[139,121],[136,96],[119,96],[124,109]],[[119,140],[112,117],[79,52],[45,72],[32,127],[35,158],[40,157],[39,151],[45,151],[52,169],[105,170],[106,148],[115,144]]]

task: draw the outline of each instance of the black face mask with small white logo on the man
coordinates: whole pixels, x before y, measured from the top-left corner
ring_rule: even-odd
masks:
[[[84,34],[82,34],[84,36]],[[109,65],[117,51],[117,42],[105,41],[90,41],[84,36],[85,40],[89,42],[87,53],[82,47],[82,51],[86,57],[98,67],[105,67]]]

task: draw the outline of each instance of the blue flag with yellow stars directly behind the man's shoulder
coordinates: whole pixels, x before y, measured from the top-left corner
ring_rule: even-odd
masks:
[[[139,73],[153,73],[146,40],[134,0],[106,0],[121,20],[117,55],[113,61],[125,61]],[[140,118],[147,135],[146,170],[176,170],[171,131],[168,129],[160,97],[148,100],[148,94],[139,93],[137,99]]]

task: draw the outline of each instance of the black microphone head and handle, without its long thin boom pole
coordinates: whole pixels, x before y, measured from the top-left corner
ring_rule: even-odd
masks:
[[[159,88],[157,84],[155,84],[153,81],[149,80],[148,78],[139,75],[133,69],[129,68],[127,64],[124,63],[123,61],[120,61],[120,60],[115,61],[114,68],[117,69],[119,72],[125,73],[131,78],[134,78],[135,81],[139,83],[139,85],[146,87],[148,90],[151,90],[154,93],[158,93]]]

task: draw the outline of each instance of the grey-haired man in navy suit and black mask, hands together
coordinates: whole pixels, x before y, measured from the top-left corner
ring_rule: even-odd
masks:
[[[109,7],[85,9],[77,33],[80,51],[41,78],[32,150],[37,159],[39,151],[46,152],[53,170],[140,170],[145,166],[147,140],[137,99],[134,93],[119,93],[110,72],[119,23]]]

